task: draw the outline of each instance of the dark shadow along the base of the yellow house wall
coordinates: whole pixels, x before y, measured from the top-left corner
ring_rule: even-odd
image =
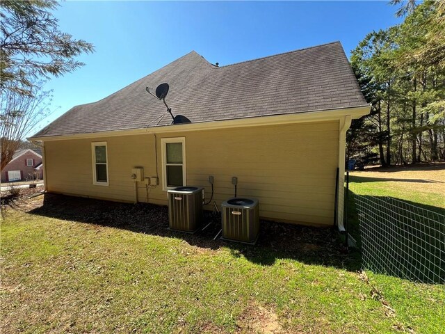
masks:
[[[293,259],[305,264],[319,264],[348,271],[360,269],[360,254],[346,253],[337,232],[332,228],[310,228],[302,225],[261,221],[256,246],[213,240],[220,231],[220,216],[205,212],[211,223],[204,231],[186,234],[168,230],[168,207],[146,203],[126,204],[76,198],[47,193],[43,205],[29,214],[90,223],[133,232],[183,239],[193,246],[209,249],[228,247],[234,256],[244,256],[251,262],[272,265],[277,259]],[[206,225],[207,225],[206,223]]]

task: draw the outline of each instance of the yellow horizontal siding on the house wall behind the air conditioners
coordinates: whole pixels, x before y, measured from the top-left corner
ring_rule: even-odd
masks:
[[[177,125],[180,129],[181,125]],[[167,205],[163,191],[161,138],[186,138],[186,180],[204,186],[210,198],[214,177],[218,205],[234,196],[255,197],[260,216],[275,221],[332,225],[339,122],[310,122],[156,134],[159,186],[138,182],[138,200]],[[108,186],[92,184],[91,143],[107,142]],[[133,202],[131,168],[156,175],[154,134],[45,142],[48,191]],[[207,206],[211,209],[211,206]]]

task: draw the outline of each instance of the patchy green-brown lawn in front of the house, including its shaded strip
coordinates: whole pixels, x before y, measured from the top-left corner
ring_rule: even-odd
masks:
[[[166,230],[167,211],[46,195],[3,207],[2,333],[441,333],[443,286],[362,273],[330,230],[258,246]]]

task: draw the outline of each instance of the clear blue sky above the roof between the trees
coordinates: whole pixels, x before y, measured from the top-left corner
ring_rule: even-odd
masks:
[[[192,50],[221,66],[339,40],[349,56],[366,33],[400,23],[396,9],[388,1],[65,1],[54,12],[60,30],[96,51],[48,82],[56,111],[38,128]]]

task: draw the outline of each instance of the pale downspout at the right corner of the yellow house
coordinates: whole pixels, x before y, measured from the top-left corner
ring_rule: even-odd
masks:
[[[339,231],[344,232],[343,210],[344,210],[344,182],[345,182],[345,157],[346,157],[346,131],[350,127],[352,116],[346,115],[340,119],[339,124],[339,177],[338,177],[338,200],[337,200],[337,226]]]

